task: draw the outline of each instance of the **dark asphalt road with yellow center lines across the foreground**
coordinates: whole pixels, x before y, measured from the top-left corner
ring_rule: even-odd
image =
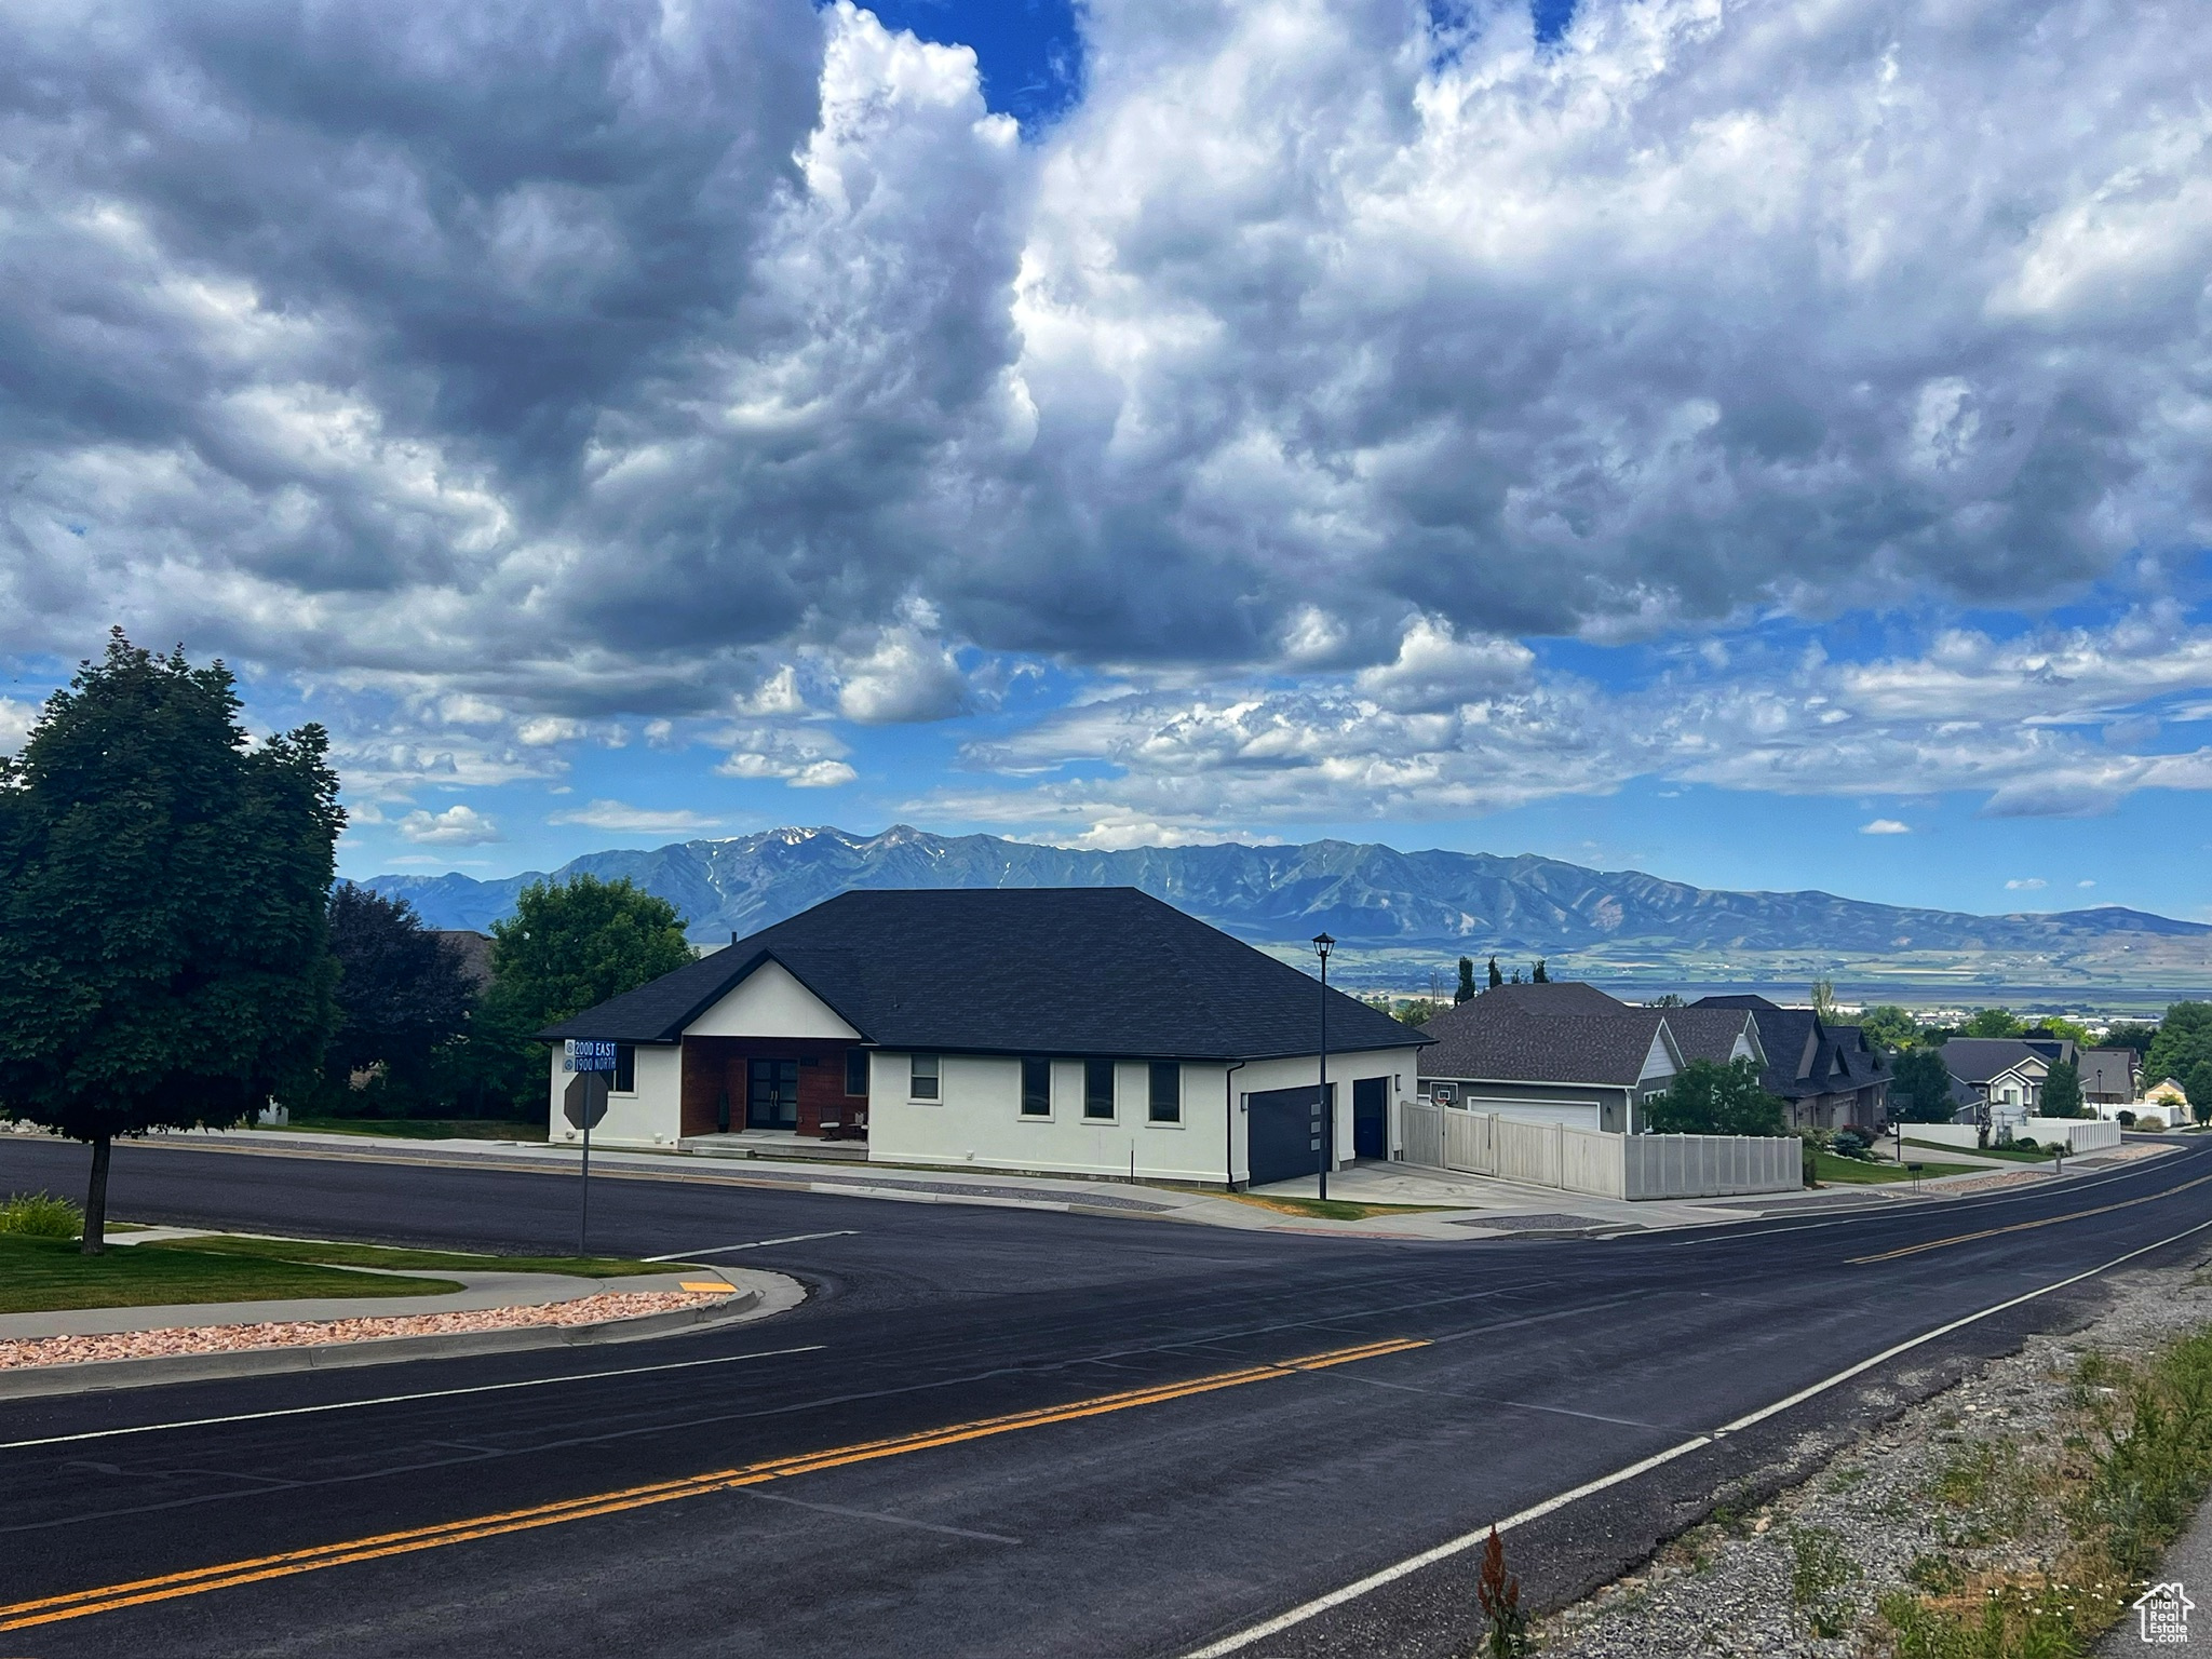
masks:
[[[0,1192],[82,1159],[0,1137]],[[122,1146],[113,1206],[560,1250],[573,1177]],[[2212,1144],[1467,1245],[595,1181],[599,1250],[763,1239],[790,1243],[719,1259],[812,1296],[748,1327],[0,1405],[0,1652],[1188,1655],[1659,1460],[1509,1533],[1548,1599],[2081,1318],[2097,1279],[2035,1292],[2194,1259]],[[1239,1650],[1462,1652],[1471,1579],[1460,1551]]]

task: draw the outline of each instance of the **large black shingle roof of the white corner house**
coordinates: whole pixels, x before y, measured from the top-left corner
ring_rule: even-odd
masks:
[[[1314,1053],[1318,984],[1135,887],[841,894],[540,1031],[675,1042],[776,960],[885,1048],[1263,1060]],[[1329,1048],[1416,1031],[1329,991]]]

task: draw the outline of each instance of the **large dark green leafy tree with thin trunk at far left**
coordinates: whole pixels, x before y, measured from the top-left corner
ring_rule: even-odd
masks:
[[[122,628],[0,761],[0,1110],[93,1148],[312,1088],[336,967],[338,779],[319,726],[252,743],[221,666]]]

